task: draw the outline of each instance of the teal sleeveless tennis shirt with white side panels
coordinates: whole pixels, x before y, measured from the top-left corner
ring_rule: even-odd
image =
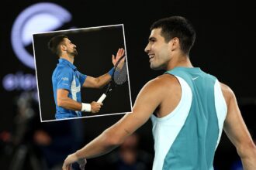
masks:
[[[213,158],[227,115],[220,83],[200,68],[175,67],[182,97],[170,114],[151,116],[154,170],[213,169]]]

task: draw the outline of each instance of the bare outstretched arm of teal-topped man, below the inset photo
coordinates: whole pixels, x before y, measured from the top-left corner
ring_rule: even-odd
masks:
[[[63,169],[68,165],[78,162],[81,158],[94,158],[112,151],[123,141],[133,134],[137,128],[145,124],[154,110],[161,104],[164,93],[162,83],[159,80],[152,80],[147,83],[137,96],[133,106],[133,113],[126,114],[121,120],[112,127],[106,129],[98,138],[95,138],[84,148],[69,155],[64,162]]]

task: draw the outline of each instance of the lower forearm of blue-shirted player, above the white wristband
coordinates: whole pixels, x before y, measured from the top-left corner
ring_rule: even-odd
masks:
[[[68,110],[81,110],[81,104],[69,97],[58,99],[57,105]]]

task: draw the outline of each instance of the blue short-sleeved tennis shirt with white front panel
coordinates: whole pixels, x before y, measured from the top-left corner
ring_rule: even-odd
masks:
[[[57,106],[57,90],[68,90],[68,96],[72,100],[81,103],[81,86],[85,82],[86,75],[80,73],[77,67],[67,61],[67,59],[59,59],[59,63],[52,75],[52,83],[54,89],[54,101],[56,105],[56,119],[81,117],[81,111],[67,110],[64,107]]]

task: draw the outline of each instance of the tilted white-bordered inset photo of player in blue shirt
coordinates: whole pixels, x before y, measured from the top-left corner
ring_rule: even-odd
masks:
[[[40,118],[132,111],[123,24],[33,34]]]

